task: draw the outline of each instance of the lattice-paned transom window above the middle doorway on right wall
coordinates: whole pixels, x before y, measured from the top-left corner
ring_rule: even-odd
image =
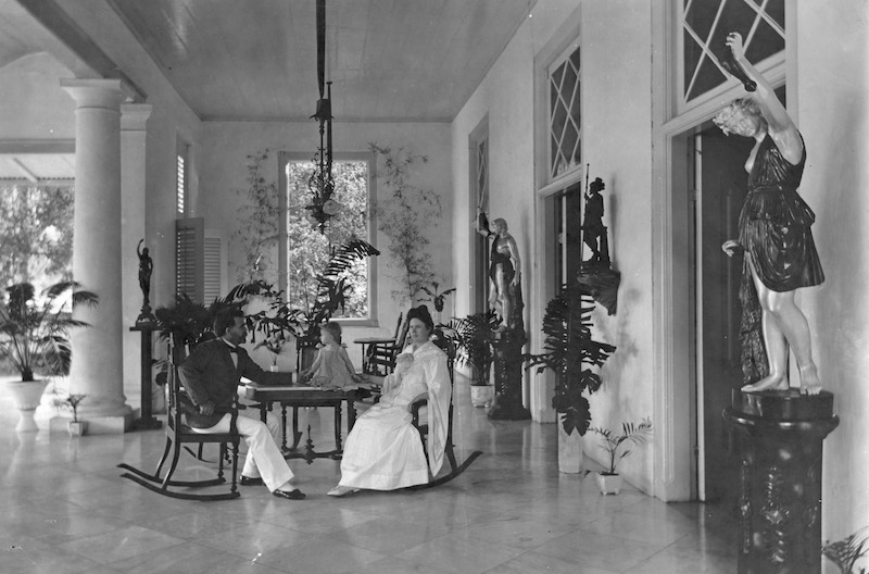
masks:
[[[579,48],[571,48],[549,72],[549,167],[550,180],[582,165],[580,127]]]

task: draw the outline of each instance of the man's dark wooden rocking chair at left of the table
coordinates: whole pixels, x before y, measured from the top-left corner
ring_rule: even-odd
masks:
[[[119,469],[129,471],[121,476],[140,484],[149,490],[153,490],[154,492],[172,498],[181,498],[186,500],[228,500],[238,498],[240,496],[237,486],[238,447],[239,442],[241,441],[241,435],[239,435],[236,426],[236,420],[238,419],[238,400],[234,400],[234,412],[229,423],[228,433],[200,434],[193,432],[189,426],[187,426],[187,424],[185,424],[182,415],[185,412],[196,412],[196,407],[193,405],[192,401],[190,401],[187,392],[180,384],[178,366],[176,364],[176,349],[172,344],[172,339],[169,340],[168,354],[169,376],[167,384],[169,385],[169,401],[168,416],[166,421],[166,448],[163,451],[163,457],[161,457],[154,474],[148,474],[139,469],[130,466],[129,464],[121,463],[117,465]],[[172,475],[175,473],[176,466],[178,465],[178,459],[180,457],[181,449],[185,448],[189,451],[185,445],[199,445],[200,456],[198,459],[202,460],[201,446],[207,442],[217,442],[221,445],[221,452],[217,462],[217,477],[209,481],[173,481]],[[163,465],[166,463],[166,460],[168,460],[169,452],[172,452],[172,462],[169,463],[165,476],[161,478],[161,472],[163,471]],[[224,478],[224,461],[230,460],[230,457],[232,464],[232,482],[228,492],[197,495],[171,489],[171,487],[217,486],[226,483],[226,478]]]

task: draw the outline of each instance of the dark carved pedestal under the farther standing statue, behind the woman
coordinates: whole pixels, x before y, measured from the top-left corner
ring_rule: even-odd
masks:
[[[525,330],[506,329],[494,333],[495,399],[489,419],[522,421],[531,412],[522,404],[522,346]]]

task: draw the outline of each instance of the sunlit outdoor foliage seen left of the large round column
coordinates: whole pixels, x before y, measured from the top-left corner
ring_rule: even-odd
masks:
[[[0,186],[0,277],[50,283],[72,273],[72,186]]]

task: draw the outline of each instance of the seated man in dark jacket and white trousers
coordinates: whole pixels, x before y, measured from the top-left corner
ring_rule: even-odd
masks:
[[[229,430],[232,402],[242,376],[263,385],[290,385],[290,373],[267,373],[240,347],[248,338],[244,314],[240,309],[225,309],[214,320],[216,339],[199,345],[178,367],[181,384],[198,413],[187,414],[187,424],[197,433]],[[276,497],[301,500],[301,490],[290,485],[292,471],[284,460],[275,439],[259,412],[239,411],[239,434],[248,444],[248,457],[241,470],[241,485],[265,484]]]

